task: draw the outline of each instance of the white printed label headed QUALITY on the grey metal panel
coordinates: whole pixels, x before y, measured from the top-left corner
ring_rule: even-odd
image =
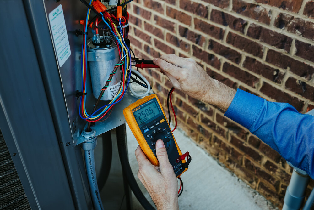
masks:
[[[62,5],[57,6],[48,15],[55,50],[61,67],[71,55],[68,32],[65,26]]]

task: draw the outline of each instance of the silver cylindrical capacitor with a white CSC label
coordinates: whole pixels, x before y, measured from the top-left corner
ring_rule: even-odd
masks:
[[[87,41],[87,60],[89,62],[89,71],[92,81],[93,95],[99,97],[102,87],[105,86],[110,73],[115,65],[119,62],[119,52],[114,43],[109,47],[97,48],[93,40]],[[120,67],[117,68],[116,74],[112,77],[109,87],[104,92],[101,100],[107,101],[116,97],[121,84]]]

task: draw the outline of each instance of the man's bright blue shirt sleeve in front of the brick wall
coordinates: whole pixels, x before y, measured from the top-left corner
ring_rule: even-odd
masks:
[[[314,178],[314,116],[287,103],[238,89],[225,116],[249,129],[292,165]]]

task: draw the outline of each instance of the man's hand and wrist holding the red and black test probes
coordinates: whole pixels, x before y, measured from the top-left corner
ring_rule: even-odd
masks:
[[[236,90],[209,77],[191,58],[170,54],[154,58],[153,62],[165,73],[174,88],[222,110],[228,109],[236,94]]]

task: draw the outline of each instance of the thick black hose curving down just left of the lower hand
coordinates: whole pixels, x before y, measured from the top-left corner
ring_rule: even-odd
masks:
[[[126,147],[126,139],[125,139],[125,124],[122,124],[116,128],[117,133],[117,143],[118,143],[118,151],[119,157],[121,161],[122,168],[126,173],[127,182],[133,191],[135,197],[141,203],[145,210],[154,210],[155,208],[149,203],[149,201],[145,198],[142,191],[139,189],[138,184],[133,176],[131,166],[127,157],[127,147]]]

